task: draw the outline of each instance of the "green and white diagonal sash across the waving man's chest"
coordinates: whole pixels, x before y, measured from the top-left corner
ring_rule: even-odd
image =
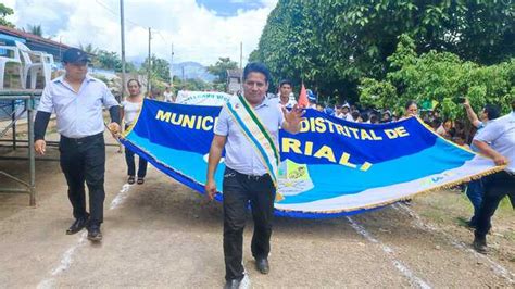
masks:
[[[243,136],[254,148],[277,188],[280,156],[271,134],[244,97],[238,96],[234,101],[227,102],[226,106]]]

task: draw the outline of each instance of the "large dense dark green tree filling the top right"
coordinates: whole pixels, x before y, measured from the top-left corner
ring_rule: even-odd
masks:
[[[381,79],[406,34],[417,53],[452,52],[493,64],[514,55],[510,1],[279,0],[251,60],[325,95],[356,97],[359,79]]]

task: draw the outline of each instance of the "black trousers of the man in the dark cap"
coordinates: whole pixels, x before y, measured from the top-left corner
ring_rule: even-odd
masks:
[[[68,185],[68,199],[75,218],[87,217],[84,183],[89,191],[90,225],[103,222],[105,143],[103,133],[73,139],[61,136],[61,169]]]

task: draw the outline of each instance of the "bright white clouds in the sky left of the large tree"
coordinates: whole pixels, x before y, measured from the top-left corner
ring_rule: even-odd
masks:
[[[15,10],[15,16],[10,20],[18,27],[41,24],[45,34],[56,40],[61,37],[64,43],[92,43],[120,52],[118,0],[7,1]],[[174,62],[197,61],[206,65],[215,63],[219,56],[239,61],[240,41],[246,62],[258,47],[277,0],[262,0],[264,8],[240,10],[233,17],[216,16],[214,11],[199,7],[194,0],[126,0],[124,3],[128,58],[143,59],[148,54],[147,27],[150,26],[154,32],[152,50],[158,56],[169,60],[173,42]]]

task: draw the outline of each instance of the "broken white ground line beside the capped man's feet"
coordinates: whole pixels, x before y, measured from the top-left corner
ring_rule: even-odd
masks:
[[[124,200],[128,196],[128,191],[130,189],[130,185],[125,184],[120,192],[114,197],[113,201],[111,202],[111,206],[109,208],[110,210],[116,209],[118,205],[121,205]],[[80,235],[80,238],[78,239],[77,243],[72,246],[66,252],[64,252],[63,256],[61,257],[61,262],[59,266],[50,273],[52,277],[56,277],[61,273],[67,271],[70,266],[72,266],[73,263],[73,255],[77,251],[77,249],[86,243],[86,237],[88,234],[84,231]],[[42,281],[40,281],[37,286],[38,289],[49,289],[49,288],[55,288],[55,279],[54,278],[47,278]]]

